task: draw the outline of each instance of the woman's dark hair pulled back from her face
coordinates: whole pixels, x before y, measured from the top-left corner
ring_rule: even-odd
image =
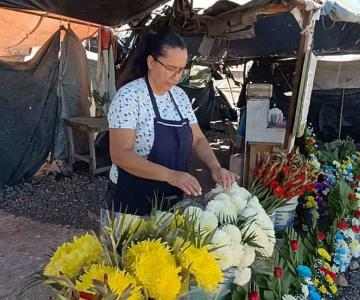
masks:
[[[155,59],[165,55],[168,48],[186,49],[182,37],[174,31],[161,31],[158,33],[145,33],[140,36],[136,48],[125,63],[120,74],[118,87],[143,77],[148,72],[147,57],[151,55]]]

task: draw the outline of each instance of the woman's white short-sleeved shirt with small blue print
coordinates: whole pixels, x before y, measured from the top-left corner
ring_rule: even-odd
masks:
[[[183,118],[190,124],[197,123],[194,111],[186,93],[174,86],[170,90]],[[179,121],[180,116],[171,101],[169,93],[154,94],[161,118]],[[109,128],[132,128],[136,130],[134,151],[147,158],[154,143],[154,109],[144,78],[136,79],[121,87],[111,102],[108,121]],[[110,179],[117,183],[117,167],[112,165]]]

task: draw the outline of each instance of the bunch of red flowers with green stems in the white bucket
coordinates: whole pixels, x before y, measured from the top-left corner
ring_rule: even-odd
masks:
[[[298,153],[263,153],[258,156],[251,191],[271,214],[295,196],[312,192],[317,175],[316,168]]]

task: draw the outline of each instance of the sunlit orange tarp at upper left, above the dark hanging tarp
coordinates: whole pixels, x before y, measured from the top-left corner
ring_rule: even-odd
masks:
[[[69,26],[80,39],[97,32],[91,24],[63,21],[42,15],[0,8],[0,57],[29,54],[31,47],[42,46],[61,25]]]

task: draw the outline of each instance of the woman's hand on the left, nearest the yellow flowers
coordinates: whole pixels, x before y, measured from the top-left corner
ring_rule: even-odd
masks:
[[[201,186],[197,179],[186,172],[170,170],[167,182],[181,189],[188,195],[200,196],[202,193]]]

